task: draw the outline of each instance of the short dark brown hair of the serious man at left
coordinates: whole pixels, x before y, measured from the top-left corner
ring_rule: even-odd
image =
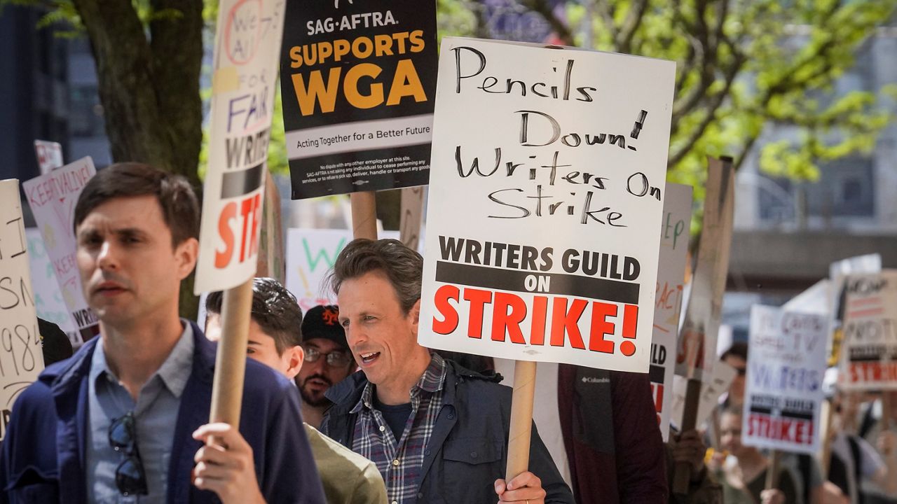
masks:
[[[199,237],[199,203],[187,178],[138,162],[119,162],[97,171],[74,206],[74,229],[100,204],[131,196],[156,196],[171,230],[172,247]]]

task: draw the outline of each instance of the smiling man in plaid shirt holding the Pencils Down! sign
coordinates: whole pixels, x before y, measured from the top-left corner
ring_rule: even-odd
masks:
[[[511,389],[417,343],[423,261],[395,239],[356,239],[331,274],[361,371],[327,391],[321,430],[370,458],[393,504],[572,504],[533,428],[529,468],[505,482]]]

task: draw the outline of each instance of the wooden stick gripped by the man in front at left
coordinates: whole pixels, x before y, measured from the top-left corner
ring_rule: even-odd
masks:
[[[239,409],[243,400],[243,376],[246,373],[246,345],[249,334],[249,310],[252,307],[252,279],[224,291],[222,299],[222,336],[215,357],[212,383],[212,412],[209,421],[222,421],[239,427]]]

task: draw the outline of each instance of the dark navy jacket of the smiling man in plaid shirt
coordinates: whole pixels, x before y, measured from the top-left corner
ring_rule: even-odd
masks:
[[[496,502],[494,482],[505,477],[511,388],[446,360],[442,409],[424,450],[418,504]],[[349,413],[368,380],[361,371],[327,391],[334,405],[321,431],[352,449],[358,413]],[[546,504],[573,504],[573,495],[533,425],[529,471],[542,480]]]

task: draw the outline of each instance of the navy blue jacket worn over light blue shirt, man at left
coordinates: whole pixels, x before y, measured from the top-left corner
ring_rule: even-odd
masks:
[[[192,324],[192,323],[191,323]],[[193,369],[172,432],[168,502],[219,502],[190,482],[201,447],[191,434],[208,423],[216,345],[195,324]],[[0,457],[3,502],[86,504],[88,376],[93,338],[45,369],[16,400]],[[300,418],[299,397],[286,378],[248,360],[239,431],[252,447],[262,495],[270,504],[323,504],[324,492]]]

